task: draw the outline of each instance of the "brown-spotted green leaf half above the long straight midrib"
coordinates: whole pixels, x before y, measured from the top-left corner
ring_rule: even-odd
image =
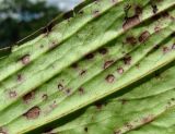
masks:
[[[0,126],[10,134],[28,132],[112,95],[172,62],[175,59],[172,37],[175,2],[155,3],[156,12],[149,0],[96,1],[84,8],[86,13],[81,16],[84,23],[71,22],[80,19],[75,15],[60,22],[49,34],[13,49],[8,58],[0,60],[8,65],[7,72],[3,64],[0,66]],[[161,16],[152,17],[158,14]],[[70,29],[65,23],[71,25]],[[65,26],[62,31],[57,28],[60,25]],[[77,25],[77,29],[72,25]],[[63,36],[57,47],[55,39],[60,33],[70,35]],[[40,48],[35,42],[45,46],[40,52],[35,51],[34,47]],[[158,46],[161,49],[155,49]],[[34,54],[21,54],[20,50]]]

